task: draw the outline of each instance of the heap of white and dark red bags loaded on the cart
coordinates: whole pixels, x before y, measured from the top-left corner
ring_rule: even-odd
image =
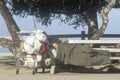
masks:
[[[27,53],[25,66],[33,66],[35,58],[38,62],[42,60],[42,55],[48,50],[47,34],[42,30],[34,31],[23,44],[24,51]],[[36,56],[33,56],[36,54]],[[30,63],[31,65],[28,65]]]

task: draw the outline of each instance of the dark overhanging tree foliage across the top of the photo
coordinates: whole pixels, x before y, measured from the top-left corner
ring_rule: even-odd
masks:
[[[94,9],[100,11],[107,0],[11,0],[11,12],[25,17],[35,16],[43,25],[50,25],[54,19],[69,25],[84,26],[84,13]],[[65,18],[63,18],[63,15]]]

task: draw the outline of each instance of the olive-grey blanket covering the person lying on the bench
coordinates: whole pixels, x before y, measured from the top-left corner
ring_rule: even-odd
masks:
[[[81,44],[60,43],[56,58],[76,66],[110,64],[108,51],[94,50],[88,45]]]

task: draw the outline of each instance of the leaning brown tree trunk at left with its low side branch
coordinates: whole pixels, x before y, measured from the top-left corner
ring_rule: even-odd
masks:
[[[14,21],[9,9],[6,7],[3,0],[0,0],[0,13],[5,20],[5,23],[7,25],[7,29],[10,32],[12,40],[14,42],[13,43],[14,46],[8,46],[8,48],[10,50],[12,49],[13,53],[14,53],[14,51],[15,51],[15,53],[18,53],[17,49],[19,49],[20,39],[19,39],[19,36],[17,35],[16,32],[20,31],[20,29],[17,26],[16,22]],[[11,45],[10,40],[1,39],[0,46],[4,47],[5,45]]]

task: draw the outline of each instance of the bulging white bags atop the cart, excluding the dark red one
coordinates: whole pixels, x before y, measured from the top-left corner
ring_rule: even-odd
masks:
[[[41,30],[34,31],[24,42],[24,51],[28,54],[33,54],[34,51],[39,51],[41,48],[40,41],[46,42],[47,36]]]

